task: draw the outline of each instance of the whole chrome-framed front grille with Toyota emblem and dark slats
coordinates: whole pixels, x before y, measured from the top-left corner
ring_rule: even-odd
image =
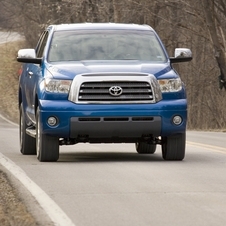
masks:
[[[75,76],[68,100],[76,104],[156,103],[162,93],[154,75],[97,73]]]

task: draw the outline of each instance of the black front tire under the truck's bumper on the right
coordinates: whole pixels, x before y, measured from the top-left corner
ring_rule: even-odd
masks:
[[[164,160],[181,161],[185,156],[186,133],[162,138],[162,157]]]

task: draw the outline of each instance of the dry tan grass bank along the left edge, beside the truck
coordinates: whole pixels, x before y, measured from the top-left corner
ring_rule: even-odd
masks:
[[[7,119],[18,123],[18,81],[21,64],[16,61],[17,52],[25,45],[15,41],[0,45],[0,113]]]

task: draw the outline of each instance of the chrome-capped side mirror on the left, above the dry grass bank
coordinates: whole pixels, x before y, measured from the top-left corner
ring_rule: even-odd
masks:
[[[17,61],[21,63],[41,64],[42,58],[37,58],[35,49],[20,49]]]

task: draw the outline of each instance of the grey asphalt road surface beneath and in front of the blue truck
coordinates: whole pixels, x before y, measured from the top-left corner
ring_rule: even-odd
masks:
[[[79,144],[40,163],[19,153],[18,140],[18,127],[0,118],[2,155],[76,226],[226,225],[226,133],[187,132],[182,162],[163,161],[160,147],[138,155],[133,144]]]

